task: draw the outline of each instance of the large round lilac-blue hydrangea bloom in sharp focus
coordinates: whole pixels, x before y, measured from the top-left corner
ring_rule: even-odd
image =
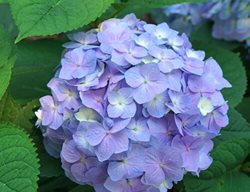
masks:
[[[228,124],[213,58],[166,23],[129,14],[69,36],[37,125],[66,175],[96,191],[167,191],[212,163]]]

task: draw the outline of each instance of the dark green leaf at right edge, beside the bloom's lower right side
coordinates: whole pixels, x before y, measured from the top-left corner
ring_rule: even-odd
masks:
[[[228,111],[229,125],[221,130],[221,135],[216,137],[215,143],[219,145],[233,139],[250,139],[249,123],[235,109]]]

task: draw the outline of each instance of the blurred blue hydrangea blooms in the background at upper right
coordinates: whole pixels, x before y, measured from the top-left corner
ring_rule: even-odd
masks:
[[[212,0],[169,6],[164,9],[171,26],[192,28],[209,19],[214,22],[212,35],[218,39],[243,41],[250,37],[249,0]]]

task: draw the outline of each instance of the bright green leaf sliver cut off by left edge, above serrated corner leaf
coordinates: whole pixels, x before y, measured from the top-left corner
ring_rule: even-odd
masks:
[[[11,69],[15,62],[9,35],[0,26],[0,100],[10,81]]]

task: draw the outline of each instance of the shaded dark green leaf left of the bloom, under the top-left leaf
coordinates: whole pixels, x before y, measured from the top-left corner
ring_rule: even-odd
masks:
[[[17,45],[17,62],[10,84],[14,99],[26,103],[50,93],[46,85],[60,63],[61,44],[56,40],[38,40]]]

